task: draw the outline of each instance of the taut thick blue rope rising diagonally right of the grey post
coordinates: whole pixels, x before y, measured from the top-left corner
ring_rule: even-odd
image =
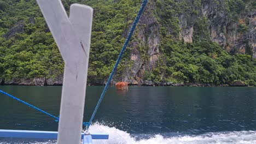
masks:
[[[124,54],[124,51],[125,51],[125,49],[126,49],[126,46],[128,45],[128,43],[129,43],[129,41],[130,41],[130,39],[131,39],[131,37],[132,37],[132,33],[133,33],[133,31],[135,30],[135,27],[136,27],[136,25],[137,25],[137,23],[138,23],[138,21],[139,21],[139,18],[140,18],[141,15],[142,15],[142,13],[143,13],[143,11],[144,11],[144,9],[145,9],[147,3],[148,3],[148,0],[143,0],[143,2],[142,2],[142,4],[141,4],[141,8],[140,8],[139,11],[138,11],[138,14],[137,14],[137,16],[136,16],[136,18],[135,18],[135,21],[133,21],[133,23],[132,23],[131,30],[130,30],[130,32],[129,32],[129,34],[128,34],[126,40],[125,40],[124,46],[123,46],[123,48],[122,48],[122,50],[121,50],[121,52],[120,52],[120,54],[119,54],[119,56],[118,56],[117,62],[115,62],[115,66],[114,66],[113,70],[111,71],[111,73],[110,73],[110,75],[109,75],[109,78],[108,78],[108,81],[107,81],[107,83],[106,83],[106,86],[104,87],[103,92],[101,93],[101,97],[100,97],[100,99],[98,100],[98,103],[97,103],[97,105],[96,105],[96,107],[95,107],[94,113],[92,113],[92,116],[91,116],[91,118],[90,118],[90,121],[87,122],[87,123],[83,123],[83,124],[86,126],[87,129],[90,127],[90,124],[91,124],[91,122],[92,122],[92,119],[94,119],[95,113],[97,112],[98,107],[99,107],[100,104],[101,104],[101,101],[102,101],[102,99],[103,99],[103,97],[104,97],[104,94],[105,94],[106,91],[107,91],[107,88],[108,88],[108,86],[109,86],[109,83],[110,83],[110,81],[112,80],[112,77],[113,77],[113,75],[114,75],[114,72],[115,72],[115,70],[116,70],[117,67],[118,67],[118,64],[119,64],[119,62],[120,62],[120,59],[121,59],[121,57],[122,57],[123,54]]]

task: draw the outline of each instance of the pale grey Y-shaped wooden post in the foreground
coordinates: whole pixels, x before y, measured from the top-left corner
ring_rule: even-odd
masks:
[[[92,8],[73,4],[70,20],[60,0],[37,0],[65,61],[57,143],[80,143]]]

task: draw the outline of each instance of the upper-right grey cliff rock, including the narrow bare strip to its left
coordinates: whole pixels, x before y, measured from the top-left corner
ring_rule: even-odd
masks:
[[[256,9],[248,8],[248,11],[241,11],[235,17],[233,15],[235,12],[232,13],[227,9],[226,2],[203,0],[197,15],[194,14],[188,17],[185,17],[184,14],[179,15],[180,38],[185,43],[193,43],[195,24],[199,19],[205,17],[211,41],[219,43],[223,49],[229,52],[238,49],[241,53],[245,53],[246,46],[249,46],[249,49],[253,52],[253,57],[256,58]],[[249,5],[245,5],[246,7],[249,7]],[[207,37],[207,35],[202,36],[201,38]]]

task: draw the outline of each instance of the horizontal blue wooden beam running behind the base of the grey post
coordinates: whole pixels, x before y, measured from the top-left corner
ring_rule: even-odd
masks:
[[[36,130],[6,130],[0,129],[0,137],[5,138],[27,138],[27,139],[49,139],[56,140],[57,131],[36,131]],[[91,134],[92,139],[107,140],[108,134]],[[84,138],[84,133],[80,134],[80,140]]]

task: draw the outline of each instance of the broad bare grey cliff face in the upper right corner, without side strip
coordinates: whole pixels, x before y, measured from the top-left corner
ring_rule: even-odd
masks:
[[[234,20],[234,17],[230,16],[226,10],[224,2],[220,1],[216,5],[214,1],[202,1],[202,14],[208,19],[211,40],[219,43],[229,52],[238,49],[241,53],[245,53],[246,46],[249,46],[249,49],[253,51],[254,58],[256,58],[255,9],[250,9],[246,13],[241,12]]]

